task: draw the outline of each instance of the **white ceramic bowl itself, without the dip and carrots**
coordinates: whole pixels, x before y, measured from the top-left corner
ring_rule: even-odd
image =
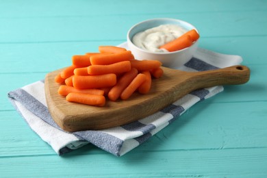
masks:
[[[165,24],[179,25],[187,29],[188,31],[190,29],[196,29],[190,23],[173,18],[153,18],[133,25],[133,27],[131,27],[131,29],[129,29],[127,33],[127,44],[137,60],[159,60],[160,62],[162,62],[163,66],[169,68],[177,68],[183,64],[186,64],[186,62],[188,62],[192,58],[199,44],[198,40],[186,49],[164,53],[151,52],[144,49],[140,49],[139,47],[136,47],[136,45],[133,44],[133,42],[131,41],[133,36],[138,32]]]

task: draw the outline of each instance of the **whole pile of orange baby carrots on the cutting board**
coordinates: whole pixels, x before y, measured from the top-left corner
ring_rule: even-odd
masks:
[[[66,101],[103,106],[106,97],[117,101],[136,91],[147,94],[152,77],[163,75],[161,66],[157,60],[136,60],[121,47],[100,46],[99,53],[73,55],[72,65],[55,76],[55,82]]]

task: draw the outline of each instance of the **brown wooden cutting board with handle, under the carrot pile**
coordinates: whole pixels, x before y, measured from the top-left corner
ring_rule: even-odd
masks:
[[[45,93],[49,112],[65,131],[106,129],[131,123],[162,110],[167,105],[199,88],[220,85],[244,84],[249,81],[246,66],[231,66],[212,71],[185,72],[164,68],[160,79],[153,79],[149,94],[135,93],[126,101],[109,101],[104,107],[83,105],[66,101],[58,94],[59,84],[54,77],[62,69],[45,77]]]

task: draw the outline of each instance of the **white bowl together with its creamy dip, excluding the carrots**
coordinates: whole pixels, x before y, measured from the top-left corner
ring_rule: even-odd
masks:
[[[173,18],[153,18],[133,25],[127,33],[127,44],[137,60],[159,60],[163,66],[177,68],[186,64],[197,49],[198,40],[190,47],[169,52],[159,49],[182,34],[197,29],[185,21]],[[198,31],[197,31],[198,32]]]

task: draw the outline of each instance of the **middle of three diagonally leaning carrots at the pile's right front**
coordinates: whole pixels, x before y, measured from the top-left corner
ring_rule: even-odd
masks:
[[[142,85],[144,81],[146,81],[147,77],[146,75],[139,73],[136,75],[136,77],[131,81],[131,84],[123,90],[123,92],[120,94],[120,99],[128,99],[131,97],[131,94],[136,91],[136,89]]]

